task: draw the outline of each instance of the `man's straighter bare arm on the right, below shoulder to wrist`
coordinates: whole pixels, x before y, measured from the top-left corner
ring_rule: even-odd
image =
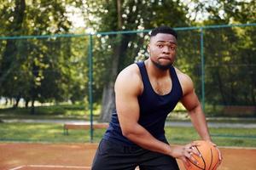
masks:
[[[195,130],[201,136],[201,139],[212,140],[207,127],[206,117],[201,109],[199,99],[195,94],[193,82],[187,76],[183,77],[183,98],[181,99],[184,107],[189,111],[189,116]]]

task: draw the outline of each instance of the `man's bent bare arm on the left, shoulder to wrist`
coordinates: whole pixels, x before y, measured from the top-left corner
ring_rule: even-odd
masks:
[[[136,69],[131,67],[122,71],[114,88],[116,109],[123,135],[146,150],[171,155],[172,150],[169,144],[155,139],[144,127],[138,124],[139,104],[137,96],[141,94],[143,85]]]

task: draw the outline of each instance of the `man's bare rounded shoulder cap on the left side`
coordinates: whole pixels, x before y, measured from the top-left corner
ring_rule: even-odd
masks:
[[[123,71],[120,71],[114,84],[115,92],[131,92],[140,94],[143,89],[141,74],[137,64],[127,66]]]

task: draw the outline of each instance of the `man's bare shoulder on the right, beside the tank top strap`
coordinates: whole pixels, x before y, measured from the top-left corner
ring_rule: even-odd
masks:
[[[174,67],[175,68],[175,67]],[[180,85],[183,89],[183,95],[189,94],[189,92],[194,90],[194,84],[192,79],[182,71],[175,68],[178,81],[180,82]]]

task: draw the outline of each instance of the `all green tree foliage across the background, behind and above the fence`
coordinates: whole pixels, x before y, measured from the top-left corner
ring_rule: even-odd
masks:
[[[81,8],[84,27],[94,31],[256,22],[254,1],[187,3],[194,8],[172,0],[0,0],[0,36],[68,33],[72,27],[67,18],[70,7]],[[195,20],[200,14],[208,18]],[[201,31],[177,32],[175,65],[192,77],[201,98]],[[255,26],[207,29],[203,33],[207,114],[221,112],[223,105],[256,105]],[[113,87],[119,71],[147,58],[147,42],[148,32],[93,35],[96,105],[101,103],[104,89]],[[21,99],[26,105],[35,101],[84,102],[88,99],[88,44],[86,36],[1,39],[0,96],[15,99],[15,107]]]

